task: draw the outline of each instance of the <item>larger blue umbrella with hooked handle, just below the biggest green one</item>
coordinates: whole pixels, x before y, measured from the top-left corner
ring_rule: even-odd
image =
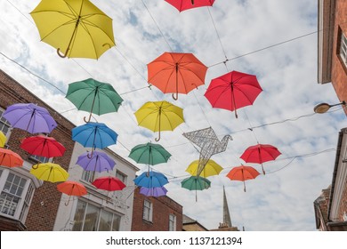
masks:
[[[106,124],[88,122],[72,129],[72,140],[82,144],[85,148],[92,148],[93,157],[95,148],[104,149],[109,145],[116,144],[117,133]]]

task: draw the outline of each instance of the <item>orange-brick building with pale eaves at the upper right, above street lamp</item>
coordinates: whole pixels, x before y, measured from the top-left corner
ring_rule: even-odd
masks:
[[[318,82],[331,82],[338,99],[347,101],[347,1],[318,3]]]

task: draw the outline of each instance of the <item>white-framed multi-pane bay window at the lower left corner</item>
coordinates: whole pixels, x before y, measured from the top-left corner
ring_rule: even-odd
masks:
[[[29,179],[8,169],[0,169],[0,215],[24,223],[34,190]]]

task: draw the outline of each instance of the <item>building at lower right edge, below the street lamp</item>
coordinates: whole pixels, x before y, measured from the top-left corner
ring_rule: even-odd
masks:
[[[347,128],[339,133],[331,185],[314,201],[316,228],[347,231]]]

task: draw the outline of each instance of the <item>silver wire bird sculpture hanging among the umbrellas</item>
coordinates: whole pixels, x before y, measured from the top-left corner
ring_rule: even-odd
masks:
[[[200,148],[197,176],[203,171],[207,161],[214,154],[225,151],[225,149],[227,149],[228,141],[232,141],[232,137],[230,135],[225,135],[222,138],[222,141],[219,141],[217,135],[214,133],[214,130],[211,127],[190,133],[183,133],[183,136]]]

